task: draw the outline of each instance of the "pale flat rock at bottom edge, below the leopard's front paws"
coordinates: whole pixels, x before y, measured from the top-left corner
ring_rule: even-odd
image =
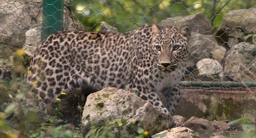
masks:
[[[195,136],[194,131],[186,127],[176,127],[164,130],[155,135],[156,137],[154,138],[194,138]]]

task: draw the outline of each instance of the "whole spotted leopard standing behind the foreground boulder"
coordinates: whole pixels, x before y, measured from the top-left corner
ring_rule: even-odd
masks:
[[[36,48],[26,81],[44,100],[48,114],[53,103],[74,89],[94,93],[116,87],[174,115],[180,102],[178,68],[188,55],[190,33],[188,25],[156,24],[125,33],[59,31]]]

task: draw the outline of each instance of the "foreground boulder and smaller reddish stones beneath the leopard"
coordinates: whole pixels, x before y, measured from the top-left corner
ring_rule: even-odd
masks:
[[[174,138],[214,137],[226,138],[228,135],[241,133],[238,126],[228,126],[226,121],[208,121],[206,119],[191,117],[186,118],[175,115],[168,117],[154,107],[140,99],[134,93],[123,89],[105,88],[87,97],[82,114],[82,132],[86,135],[92,125],[101,127],[107,120],[121,119],[122,125],[114,128],[115,136],[135,136],[132,124],[148,131],[149,136]],[[173,124],[179,127],[172,128]],[[135,130],[136,131],[136,130]],[[162,131],[162,132],[161,132]],[[209,133],[210,132],[210,133]],[[196,134],[197,133],[197,134]]]

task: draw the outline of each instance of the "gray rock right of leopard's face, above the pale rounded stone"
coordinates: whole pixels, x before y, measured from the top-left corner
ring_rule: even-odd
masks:
[[[192,32],[188,45],[189,55],[184,60],[186,67],[189,68],[192,66],[195,68],[198,61],[204,58],[211,58],[211,51],[219,47],[214,35],[202,35]]]

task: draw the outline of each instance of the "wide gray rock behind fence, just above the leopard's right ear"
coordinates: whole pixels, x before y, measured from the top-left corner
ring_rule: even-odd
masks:
[[[163,26],[182,26],[189,25],[192,28],[193,32],[201,33],[204,35],[211,35],[214,31],[210,21],[207,21],[206,17],[202,13],[193,14],[190,16],[179,16],[179,17],[170,17],[165,20],[162,20],[160,25]]]

